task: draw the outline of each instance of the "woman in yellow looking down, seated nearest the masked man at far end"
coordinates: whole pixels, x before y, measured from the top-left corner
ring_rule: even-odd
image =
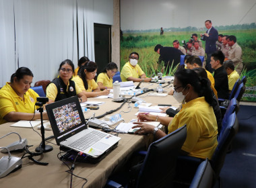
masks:
[[[98,75],[97,84],[101,90],[113,89],[113,77],[117,73],[117,64],[110,62],[106,65],[105,70]]]

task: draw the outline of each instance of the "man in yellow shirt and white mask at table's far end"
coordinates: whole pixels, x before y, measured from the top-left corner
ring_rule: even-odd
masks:
[[[131,52],[129,55],[129,62],[125,63],[122,68],[120,77],[123,82],[133,81],[133,82],[150,82],[151,78],[147,78],[146,74],[142,71],[139,64],[139,54],[137,52]]]

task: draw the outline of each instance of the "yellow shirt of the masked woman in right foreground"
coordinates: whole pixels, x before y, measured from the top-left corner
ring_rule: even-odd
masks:
[[[173,132],[185,124],[187,124],[187,138],[182,150],[189,152],[189,156],[211,159],[218,145],[218,126],[214,109],[204,97],[183,104],[181,111],[168,125],[168,132]]]

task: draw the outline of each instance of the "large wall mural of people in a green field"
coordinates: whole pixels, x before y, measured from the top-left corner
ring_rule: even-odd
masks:
[[[161,44],[183,54],[204,54],[203,66],[213,72],[210,56],[221,50],[240,78],[247,77],[243,101],[256,101],[255,22],[254,0],[121,0],[121,68],[135,51],[148,77],[164,70],[165,62],[159,63],[160,54],[154,51]],[[164,75],[173,75],[177,66]]]

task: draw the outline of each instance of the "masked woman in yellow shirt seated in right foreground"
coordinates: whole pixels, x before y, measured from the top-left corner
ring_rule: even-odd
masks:
[[[168,134],[187,124],[187,138],[181,148],[181,154],[197,158],[212,158],[218,145],[218,126],[212,108],[213,97],[210,82],[201,78],[190,69],[183,69],[174,75],[174,99],[185,102],[174,118],[158,117],[148,113],[139,113],[138,122],[133,128],[140,128],[135,134],[154,134],[160,139],[166,134],[146,121],[160,122],[168,126]]]

